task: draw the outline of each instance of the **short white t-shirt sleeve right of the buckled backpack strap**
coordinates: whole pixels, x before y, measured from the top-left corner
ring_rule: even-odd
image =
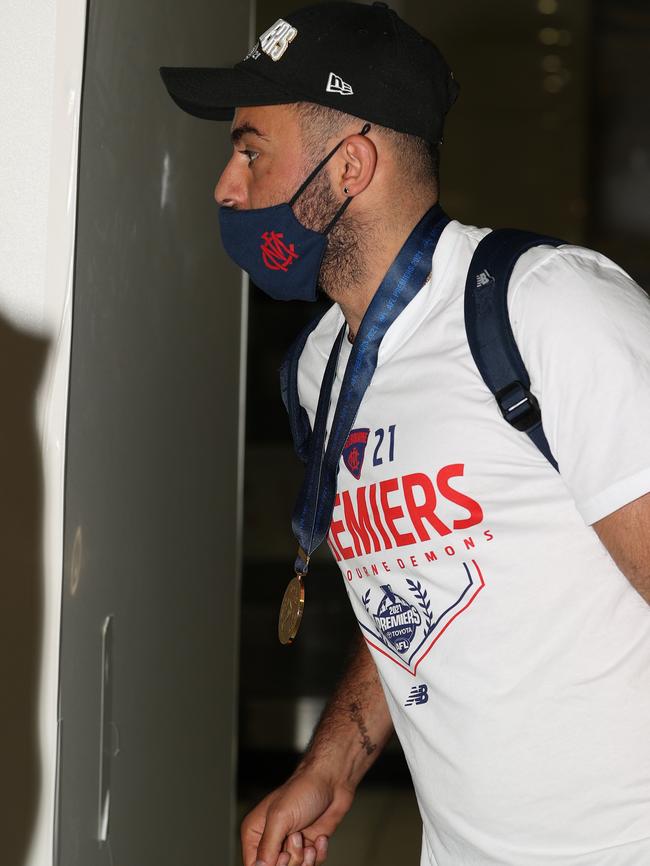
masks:
[[[592,250],[537,247],[510,282],[512,328],[560,474],[586,523],[650,491],[650,300]]]

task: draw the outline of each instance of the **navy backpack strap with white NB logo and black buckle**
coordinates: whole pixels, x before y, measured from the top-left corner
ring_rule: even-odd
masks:
[[[506,421],[526,433],[555,469],[539,403],[530,392],[530,376],[512,332],[508,283],[526,250],[562,243],[534,232],[496,229],[477,246],[465,284],[465,330],[476,366]]]

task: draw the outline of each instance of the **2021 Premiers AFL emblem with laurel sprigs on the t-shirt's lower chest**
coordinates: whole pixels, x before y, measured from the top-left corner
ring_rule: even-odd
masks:
[[[357,619],[373,649],[415,676],[420,662],[484,586],[475,560],[448,570],[444,585],[396,577],[361,595],[365,616]]]

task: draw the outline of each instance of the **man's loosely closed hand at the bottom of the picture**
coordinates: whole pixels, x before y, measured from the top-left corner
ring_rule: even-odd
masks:
[[[354,791],[310,768],[265,797],[241,828],[244,866],[320,866]],[[283,853],[281,853],[283,852]]]

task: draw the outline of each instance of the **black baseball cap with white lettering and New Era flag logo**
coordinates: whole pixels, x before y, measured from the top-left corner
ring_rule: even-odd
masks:
[[[386,3],[308,6],[276,21],[232,68],[163,66],[160,74],[196,117],[315,102],[434,144],[458,95],[436,46]]]

